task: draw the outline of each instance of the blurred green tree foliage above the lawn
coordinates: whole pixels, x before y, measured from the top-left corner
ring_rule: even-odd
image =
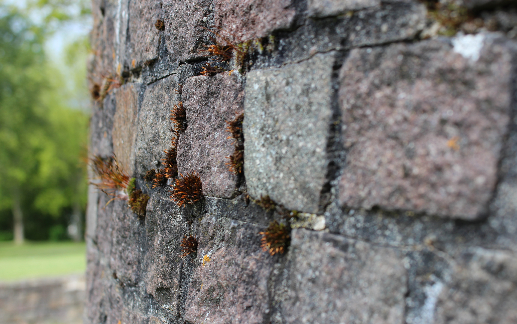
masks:
[[[0,4],[0,12],[0,230],[9,229],[2,218],[12,218],[19,191],[27,237],[46,239],[58,223],[66,234],[65,214],[74,205],[85,208],[88,116],[70,109],[71,82],[45,57],[49,30],[20,9]]]

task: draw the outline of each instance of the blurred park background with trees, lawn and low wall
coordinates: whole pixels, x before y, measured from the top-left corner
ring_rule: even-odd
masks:
[[[0,0],[1,323],[80,322],[91,24],[86,0]]]

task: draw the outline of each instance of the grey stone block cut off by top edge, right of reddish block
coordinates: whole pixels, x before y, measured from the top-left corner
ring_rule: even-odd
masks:
[[[378,6],[381,0],[309,0],[309,17],[337,16],[351,10]]]

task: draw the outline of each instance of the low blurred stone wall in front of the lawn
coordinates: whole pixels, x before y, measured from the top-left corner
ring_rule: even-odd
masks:
[[[0,283],[2,324],[82,324],[83,275]]]

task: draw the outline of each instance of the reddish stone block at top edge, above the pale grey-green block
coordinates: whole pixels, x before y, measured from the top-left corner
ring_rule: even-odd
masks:
[[[296,13],[291,6],[292,0],[216,0],[216,26],[240,41],[264,37],[291,26]]]

